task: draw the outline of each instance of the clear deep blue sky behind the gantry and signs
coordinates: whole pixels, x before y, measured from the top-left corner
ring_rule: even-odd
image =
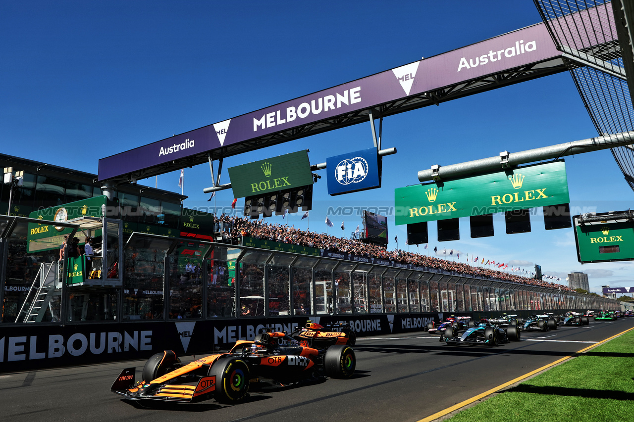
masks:
[[[17,157],[96,173],[98,159],[540,22],[532,1],[30,1],[0,2],[0,145]],[[309,228],[326,231],[328,209],[394,205],[394,188],[417,172],[597,136],[571,76],[524,82],[384,119],[383,186],[328,196],[315,186]],[[363,124],[231,157],[233,165],[308,148],[311,163],[372,146]],[[566,158],[573,212],[624,210],[632,192],[609,151]],[[230,182],[226,170],[221,182]],[[325,174],[324,174],[325,176]],[[178,172],[158,187],[178,191]],[[139,181],[154,186],[155,179]],[[231,191],[208,202],[209,166],[185,169],[184,205],[228,207]],[[238,201],[238,207],[242,200]],[[389,248],[406,239],[389,217]],[[505,234],[430,247],[478,255],[562,278],[571,271],[601,285],[634,286],[630,262],[581,265],[571,229]],[[359,215],[332,215],[349,236]],[[301,214],[288,222],[305,228]],[[281,217],[270,221],[285,222]],[[340,229],[345,222],[346,231]],[[423,252],[423,246],[420,246]],[[415,246],[409,246],[414,250]],[[442,257],[442,255],[440,255]]]

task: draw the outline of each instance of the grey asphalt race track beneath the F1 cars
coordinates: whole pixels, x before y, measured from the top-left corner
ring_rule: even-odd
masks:
[[[450,347],[423,331],[358,338],[351,380],[251,393],[233,406],[128,402],[110,392],[121,369],[145,361],[0,374],[2,420],[418,421],[634,326],[634,317],[522,333],[494,348]],[[199,356],[200,357],[200,356]],[[190,361],[192,357],[184,357]]]

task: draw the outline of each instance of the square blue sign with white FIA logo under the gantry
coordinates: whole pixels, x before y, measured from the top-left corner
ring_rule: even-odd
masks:
[[[335,155],[326,159],[328,195],[380,188],[377,148]]]

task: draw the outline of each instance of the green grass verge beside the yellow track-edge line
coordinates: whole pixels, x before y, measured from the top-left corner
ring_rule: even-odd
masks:
[[[629,331],[447,421],[634,421],[633,377],[634,331]]]

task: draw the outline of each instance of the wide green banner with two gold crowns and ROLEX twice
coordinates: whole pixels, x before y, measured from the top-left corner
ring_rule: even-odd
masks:
[[[563,161],[394,190],[396,224],[568,203]]]

